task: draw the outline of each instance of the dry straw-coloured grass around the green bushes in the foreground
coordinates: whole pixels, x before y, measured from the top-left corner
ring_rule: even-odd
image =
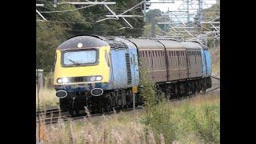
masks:
[[[202,115],[202,106],[219,105],[218,94],[198,95],[179,102],[166,102],[162,106],[174,111],[171,120],[177,125],[176,139],[172,143],[204,143],[192,128],[183,121],[184,105],[189,105]],[[170,143],[166,142],[164,134],[157,134],[149,129],[146,136],[146,126],[142,124],[145,110],[135,113],[123,112],[101,117],[84,118],[75,122],[59,122],[54,125],[41,125],[41,139],[44,143]],[[190,130],[191,129],[191,130]],[[38,140],[38,126],[37,126]]]

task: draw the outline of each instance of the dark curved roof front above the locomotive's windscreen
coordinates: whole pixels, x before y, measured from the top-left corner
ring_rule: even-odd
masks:
[[[78,43],[82,43],[82,47],[78,48]],[[81,49],[81,48],[92,48],[92,47],[101,47],[109,46],[105,41],[96,36],[77,36],[66,40],[60,46],[58,50],[66,49]]]

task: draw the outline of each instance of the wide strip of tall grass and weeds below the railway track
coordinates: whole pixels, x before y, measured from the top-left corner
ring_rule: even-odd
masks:
[[[41,139],[44,143],[219,143],[218,94],[158,102],[151,110],[46,126],[42,122]],[[143,122],[146,115],[149,125]]]

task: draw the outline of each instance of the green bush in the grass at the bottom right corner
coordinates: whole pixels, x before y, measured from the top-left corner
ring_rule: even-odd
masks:
[[[218,143],[220,134],[219,106],[206,104],[199,109],[184,105],[182,118],[186,125],[183,127],[193,131],[206,143]]]

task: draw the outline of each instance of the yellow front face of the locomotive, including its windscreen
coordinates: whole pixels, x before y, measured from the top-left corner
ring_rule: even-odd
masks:
[[[56,50],[54,86],[109,82],[109,53],[109,46]]]

